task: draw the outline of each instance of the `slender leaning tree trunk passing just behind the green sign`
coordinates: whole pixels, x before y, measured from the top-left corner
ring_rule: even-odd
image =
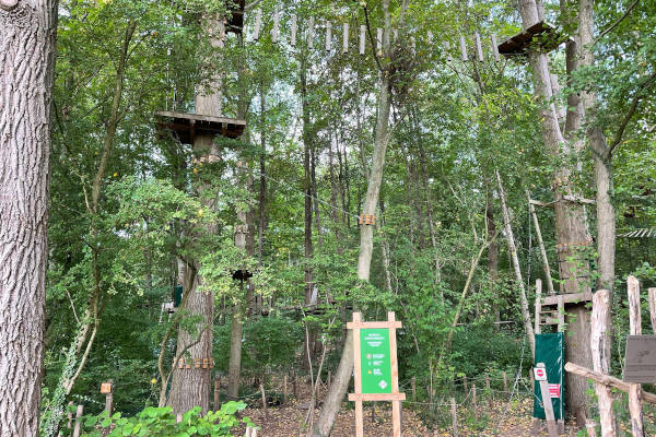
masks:
[[[383,10],[385,11],[385,32],[391,32],[389,16],[389,0],[384,0]],[[389,40],[389,38],[385,38]],[[385,47],[389,51],[389,46]],[[363,214],[376,213],[378,196],[380,193],[380,184],[383,181],[383,167],[385,165],[385,152],[389,142],[389,111],[391,106],[390,90],[391,81],[387,71],[382,72],[380,90],[378,93],[378,113],[376,119],[376,137],[374,140],[374,156],[368,176],[366,197],[364,201]],[[363,281],[370,280],[370,269],[372,263],[372,253],[374,249],[374,226],[362,225],[360,227],[360,256],[358,258],[358,277]],[[351,381],[353,373],[353,331],[349,330],[344,349],[335,374],[335,379],[330,386],[330,391],[326,395],[324,406],[319,413],[312,435],[315,437],[328,437],[332,430],[332,425],[339,413],[340,405]]]

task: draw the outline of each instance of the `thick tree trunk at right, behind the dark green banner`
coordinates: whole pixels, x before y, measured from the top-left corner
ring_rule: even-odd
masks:
[[[565,2],[566,3],[566,2]],[[565,5],[565,9],[567,7]],[[536,0],[520,0],[519,13],[524,27],[527,28],[543,17],[541,2]],[[567,72],[576,68],[576,47],[567,47]],[[549,58],[539,49],[530,51],[530,66],[534,72],[535,93],[542,98],[540,110],[542,139],[549,153],[561,162],[566,162],[572,149],[579,150],[581,142],[575,137],[563,134],[559,125],[558,110],[553,97],[553,78],[549,70]],[[577,107],[576,102],[570,102],[569,107]],[[581,122],[578,110],[567,111],[565,132],[576,131]],[[565,196],[573,194],[570,175],[573,169],[562,166],[554,172],[553,194],[555,210],[555,234],[558,239],[557,251],[559,255],[559,272],[561,279],[561,293],[579,293],[590,290],[589,262],[586,249],[591,238],[588,232],[587,217],[582,204],[567,201]],[[565,335],[565,353],[569,359],[585,367],[591,367],[589,349],[589,311],[585,305],[567,308],[567,335]],[[581,378],[566,376],[566,403],[571,413],[575,414],[579,425],[584,426],[589,400],[586,394],[587,383]]]

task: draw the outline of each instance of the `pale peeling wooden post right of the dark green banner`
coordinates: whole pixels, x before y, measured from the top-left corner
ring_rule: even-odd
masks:
[[[610,292],[608,290],[599,290],[593,295],[590,350],[593,353],[594,370],[604,375],[610,373]],[[614,437],[612,390],[607,385],[596,382],[595,392],[599,402],[601,435],[604,437]]]

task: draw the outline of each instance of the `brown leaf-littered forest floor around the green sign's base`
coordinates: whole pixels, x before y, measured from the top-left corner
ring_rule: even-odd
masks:
[[[285,406],[269,406],[268,415],[256,401],[251,406],[244,411],[244,415],[259,427],[258,437],[304,437],[307,433],[305,425],[308,408],[309,389],[301,389],[298,400],[290,400]],[[306,394],[306,395],[304,395]],[[319,394],[319,402],[323,395]],[[539,426],[534,428],[531,417],[532,400],[529,398],[515,399],[508,404],[506,400],[495,400],[488,404],[487,400],[479,401],[479,420],[473,416],[470,405],[458,409],[458,434],[459,437],[469,436],[504,436],[504,437],[541,437],[549,436],[543,421],[539,421]],[[257,405],[257,406],[256,406]],[[352,403],[347,403],[347,408],[340,411],[332,437],[353,437],[355,436],[355,415]],[[447,405],[441,406],[434,416],[442,418],[441,424],[426,426],[421,417],[421,409],[426,408],[422,404],[403,404],[402,412],[402,435],[405,437],[437,437],[453,436],[450,425],[450,413]],[[373,406],[366,405],[364,409],[364,435],[365,437],[382,437],[391,435],[391,409],[387,402],[378,402],[376,405],[375,417],[372,417]],[[316,421],[319,409],[314,410],[314,420]],[[448,422],[446,422],[448,421]],[[245,429],[239,429],[235,435],[243,436]],[[566,436],[576,436],[572,424],[565,428]]]

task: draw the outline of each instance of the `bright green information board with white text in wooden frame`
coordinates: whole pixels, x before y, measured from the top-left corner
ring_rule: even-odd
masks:
[[[363,393],[391,393],[389,329],[360,330]]]

